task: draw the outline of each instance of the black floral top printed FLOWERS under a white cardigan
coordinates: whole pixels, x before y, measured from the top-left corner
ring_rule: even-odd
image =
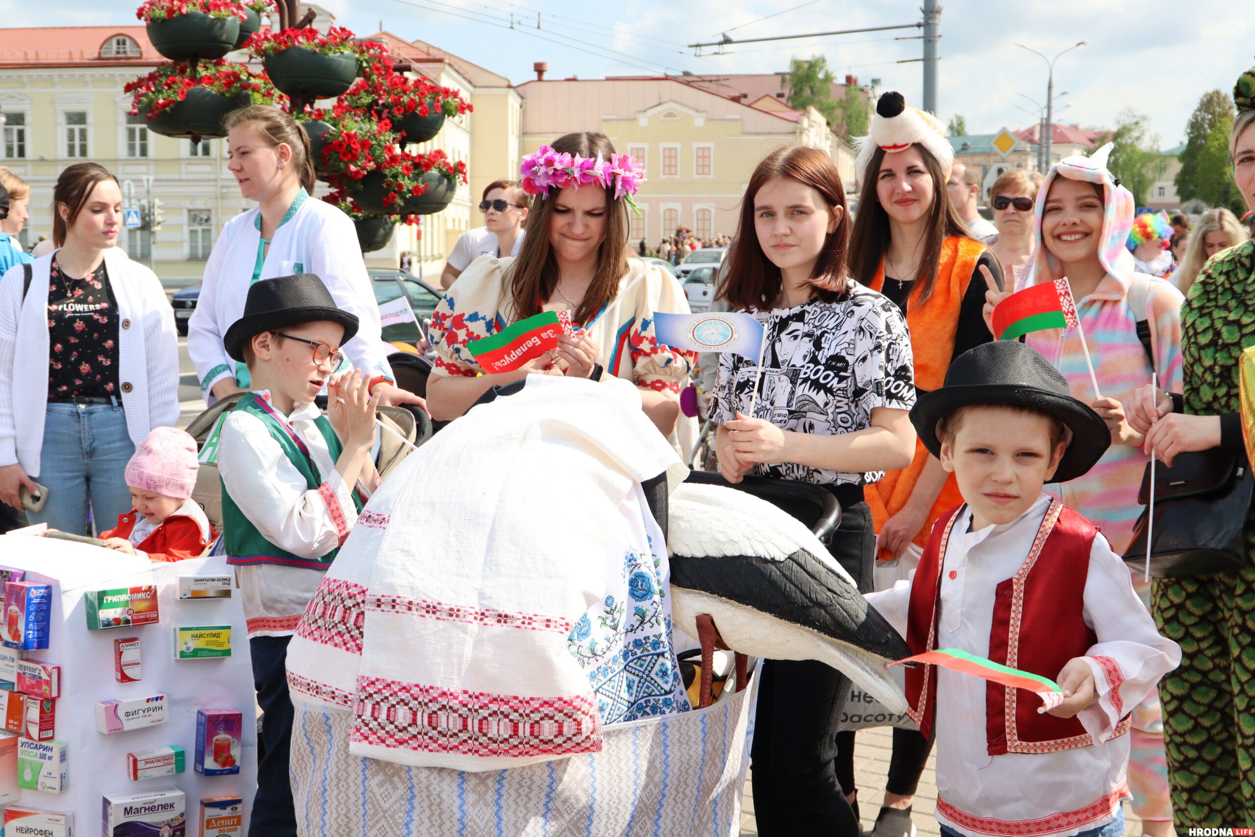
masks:
[[[118,395],[118,300],[104,262],[70,279],[56,259],[48,275],[48,398]]]

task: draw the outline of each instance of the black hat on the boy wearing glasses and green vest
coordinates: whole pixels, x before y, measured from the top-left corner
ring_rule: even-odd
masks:
[[[243,315],[231,324],[222,343],[228,355],[243,363],[243,344],[255,334],[323,320],[344,326],[341,346],[358,333],[356,315],[336,307],[331,291],[316,275],[266,279],[248,289]]]

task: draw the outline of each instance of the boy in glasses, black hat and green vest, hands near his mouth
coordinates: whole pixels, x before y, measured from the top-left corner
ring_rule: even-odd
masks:
[[[222,423],[217,453],[227,563],[240,581],[265,713],[250,834],[296,834],[287,644],[361,511],[358,483],[378,483],[370,381],[360,371],[333,374],[356,331],[358,317],[336,307],[318,276],[302,274],[254,284],[223,338],[252,379]],[[324,384],[330,420],[314,404]]]

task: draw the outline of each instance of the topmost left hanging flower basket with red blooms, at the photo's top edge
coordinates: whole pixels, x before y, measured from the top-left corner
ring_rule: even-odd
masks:
[[[153,48],[173,61],[222,58],[236,48],[243,6],[227,0],[147,0],[136,16]]]

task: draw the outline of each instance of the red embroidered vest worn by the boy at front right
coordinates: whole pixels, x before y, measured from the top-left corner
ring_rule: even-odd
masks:
[[[936,648],[941,568],[950,530],[964,506],[937,521],[911,585],[906,644],[911,654]],[[1052,501],[1028,558],[994,596],[989,659],[1054,679],[1068,660],[1084,656],[1097,641],[1084,622],[1089,552],[1098,528]],[[1023,636],[1023,639],[1022,639]],[[925,737],[932,735],[936,712],[936,666],[906,670],[907,713]],[[1038,714],[1040,700],[996,683],[985,684],[985,739],[990,755],[1054,753],[1092,744],[1076,718]],[[1126,718],[1116,729],[1128,728]]]

